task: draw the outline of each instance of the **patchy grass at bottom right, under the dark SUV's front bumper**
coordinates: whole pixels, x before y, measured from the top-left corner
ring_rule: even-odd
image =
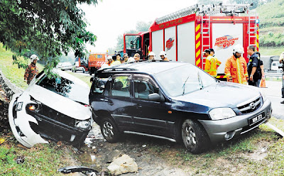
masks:
[[[269,123],[284,130],[283,120],[271,118]],[[211,145],[200,155],[168,144],[152,143],[149,150],[151,155],[168,160],[168,165],[179,167],[188,175],[281,175],[284,172],[283,142],[278,133],[263,124],[234,141]]]

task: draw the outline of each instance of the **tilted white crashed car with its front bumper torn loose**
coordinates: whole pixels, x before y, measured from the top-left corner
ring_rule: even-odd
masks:
[[[13,135],[28,148],[48,143],[45,138],[80,146],[92,127],[88,85],[61,70],[53,72],[60,77],[40,72],[9,104]]]

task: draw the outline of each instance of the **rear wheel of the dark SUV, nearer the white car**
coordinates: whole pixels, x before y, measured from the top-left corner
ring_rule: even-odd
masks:
[[[102,136],[104,136],[107,142],[116,143],[117,141],[119,141],[119,129],[116,127],[116,124],[111,119],[102,119],[101,132]]]

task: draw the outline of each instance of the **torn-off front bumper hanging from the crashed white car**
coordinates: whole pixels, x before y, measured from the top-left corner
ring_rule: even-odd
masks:
[[[18,97],[18,100],[16,99]],[[9,104],[9,123],[16,140],[22,145],[31,148],[36,143],[48,143],[42,136],[55,140],[63,140],[70,143],[81,143],[86,138],[90,129],[80,129],[67,126],[40,114],[26,111],[26,105],[33,101],[27,94],[15,95]],[[15,105],[22,102],[22,108],[17,111]]]

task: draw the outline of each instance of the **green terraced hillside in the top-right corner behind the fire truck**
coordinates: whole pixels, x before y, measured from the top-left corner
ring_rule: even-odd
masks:
[[[259,23],[259,45],[260,48],[277,50],[279,55],[284,50],[284,1],[274,0],[270,3],[258,6]]]

